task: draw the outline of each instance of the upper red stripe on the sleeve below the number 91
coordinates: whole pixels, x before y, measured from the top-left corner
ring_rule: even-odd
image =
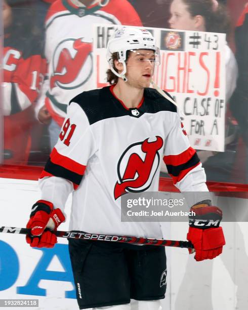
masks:
[[[59,165],[77,174],[84,175],[85,173],[86,166],[78,164],[72,159],[61,155],[55,147],[53,148],[52,153],[50,154],[50,160],[53,164]]]

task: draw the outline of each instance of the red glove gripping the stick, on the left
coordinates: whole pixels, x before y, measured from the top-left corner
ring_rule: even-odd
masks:
[[[62,211],[59,208],[53,209],[52,203],[45,200],[37,201],[32,206],[30,219],[26,226],[31,229],[31,234],[26,236],[27,243],[30,247],[54,247],[57,237],[51,230],[57,230],[64,220]],[[45,230],[45,228],[51,230]]]

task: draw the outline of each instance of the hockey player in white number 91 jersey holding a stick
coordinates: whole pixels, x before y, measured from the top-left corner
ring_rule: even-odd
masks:
[[[181,191],[202,191],[192,210],[187,239],[195,259],[212,259],[225,244],[221,227],[211,228],[220,210],[211,206],[205,174],[190,147],[176,106],[149,88],[159,50],[145,29],[122,27],[107,48],[110,87],[82,92],[70,101],[67,117],[40,177],[42,200],[34,204],[27,227],[31,247],[53,247],[73,192],[70,229],[101,234],[161,238],[158,222],[121,222],[120,198],[127,192],[157,191],[163,159]],[[202,221],[201,221],[202,225]],[[106,307],[160,309],[166,291],[164,248],[69,240],[80,309]]]

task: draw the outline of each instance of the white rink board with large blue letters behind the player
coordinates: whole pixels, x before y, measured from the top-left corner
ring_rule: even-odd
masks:
[[[37,181],[0,178],[0,226],[25,227],[38,199]],[[70,198],[67,216],[69,206]],[[168,290],[162,310],[248,308],[248,225],[222,226],[227,245],[214,260],[195,262],[186,249],[167,248]],[[68,221],[59,228],[67,230]],[[164,238],[186,240],[187,223],[163,223],[162,228]],[[30,248],[23,235],[0,234],[0,299],[39,299],[38,309],[44,310],[78,309],[76,300],[68,298],[74,288],[67,255],[67,240],[61,238],[55,248],[38,250]]]

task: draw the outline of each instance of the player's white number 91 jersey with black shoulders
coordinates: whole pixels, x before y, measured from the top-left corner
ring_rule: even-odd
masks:
[[[40,176],[42,199],[63,210],[73,190],[70,229],[161,238],[157,222],[121,222],[120,198],[157,191],[161,160],[181,191],[208,191],[176,106],[147,88],[128,109],[113,86],[83,92],[68,107],[59,141]]]

